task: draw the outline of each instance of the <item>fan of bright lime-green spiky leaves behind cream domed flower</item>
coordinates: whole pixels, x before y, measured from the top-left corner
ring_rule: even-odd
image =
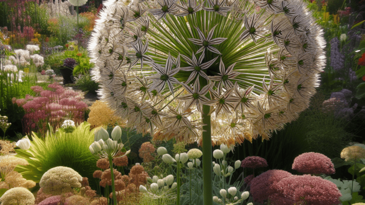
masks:
[[[44,141],[38,134],[33,133],[30,148],[16,150],[16,156],[26,159],[29,165],[19,166],[16,170],[25,179],[39,182],[49,169],[58,166],[69,167],[87,177],[91,187],[95,186],[92,174],[98,169],[97,159],[89,150],[93,142],[94,132],[90,131],[88,122],[83,122],[72,133],[62,130],[58,130],[56,134],[49,132]]]

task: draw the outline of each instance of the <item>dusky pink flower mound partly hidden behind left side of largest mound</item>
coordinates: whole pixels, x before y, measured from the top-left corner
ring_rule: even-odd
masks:
[[[250,184],[253,200],[264,203],[271,194],[275,193],[272,189],[273,185],[290,176],[292,176],[290,173],[283,170],[269,170],[253,178]]]

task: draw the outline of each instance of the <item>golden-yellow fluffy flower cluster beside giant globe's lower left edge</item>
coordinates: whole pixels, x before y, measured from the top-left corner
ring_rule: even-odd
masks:
[[[88,122],[92,128],[104,125],[118,124],[122,127],[125,125],[125,121],[115,115],[115,110],[112,110],[106,103],[99,100],[91,105]]]

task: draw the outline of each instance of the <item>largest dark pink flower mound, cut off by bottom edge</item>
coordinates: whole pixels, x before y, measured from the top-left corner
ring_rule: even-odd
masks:
[[[275,193],[269,197],[272,205],[334,205],[341,203],[342,196],[336,184],[311,175],[284,178],[273,185],[273,190]]]

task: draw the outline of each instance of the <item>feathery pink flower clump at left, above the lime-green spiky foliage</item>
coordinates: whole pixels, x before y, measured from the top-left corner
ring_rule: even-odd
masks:
[[[40,86],[33,86],[35,96],[26,95],[24,99],[12,99],[13,103],[22,106],[25,115],[22,119],[25,133],[40,131],[46,128],[48,122],[60,127],[65,119],[72,119],[76,123],[84,121],[86,103],[79,93],[66,90],[57,83],[48,85],[50,90]]]

